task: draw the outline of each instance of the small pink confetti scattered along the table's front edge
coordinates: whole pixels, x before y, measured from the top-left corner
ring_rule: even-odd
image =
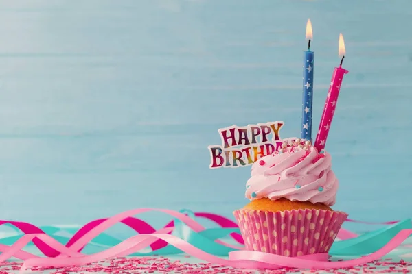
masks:
[[[19,262],[5,262],[0,264],[0,274],[18,273],[21,267]],[[50,274],[63,273],[176,273],[176,274],[196,274],[196,273],[229,273],[229,274],[280,274],[280,273],[410,273],[412,270],[412,262],[400,260],[394,262],[391,259],[376,260],[369,264],[363,264],[357,267],[347,269],[277,269],[277,270],[245,270],[233,269],[227,266],[209,264],[206,262],[190,264],[181,262],[181,260],[170,260],[162,256],[152,257],[130,257],[130,258],[114,258],[111,260],[100,261],[94,264],[85,266],[65,266],[59,268],[52,267],[33,267],[32,271],[49,271]]]

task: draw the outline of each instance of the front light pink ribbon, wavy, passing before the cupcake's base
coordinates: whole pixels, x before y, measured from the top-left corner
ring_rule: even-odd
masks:
[[[399,232],[395,237],[390,240],[387,245],[379,249],[378,251],[354,260],[347,260],[341,262],[326,262],[327,254],[321,253],[306,258],[285,257],[274,255],[270,253],[262,253],[258,251],[233,251],[229,253],[229,260],[213,256],[201,249],[198,249],[189,243],[185,242],[181,238],[178,238],[169,234],[140,234],[124,240],[119,245],[106,249],[100,253],[92,255],[81,255],[75,251],[71,251],[68,247],[61,245],[54,240],[51,236],[45,234],[28,234],[20,238],[12,245],[7,251],[3,251],[0,255],[0,262],[7,260],[19,253],[21,249],[27,245],[27,242],[34,238],[39,238],[55,250],[65,254],[65,256],[71,256],[67,258],[28,258],[23,263],[21,270],[27,269],[30,266],[71,266],[71,265],[83,265],[92,262],[106,260],[107,258],[113,258],[117,256],[126,256],[130,253],[134,253],[147,247],[157,239],[164,240],[170,245],[177,247],[198,259],[205,260],[212,264],[222,264],[226,266],[232,266],[235,268],[244,269],[278,269],[280,267],[290,267],[298,269],[341,269],[352,267],[360,264],[366,264],[368,262],[378,260],[382,256],[387,255],[390,251],[398,247],[404,240],[406,240],[412,234],[412,229],[404,229]]]

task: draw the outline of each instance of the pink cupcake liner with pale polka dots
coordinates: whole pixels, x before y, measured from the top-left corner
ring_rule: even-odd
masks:
[[[328,210],[233,212],[247,250],[296,257],[328,253],[347,214]]]

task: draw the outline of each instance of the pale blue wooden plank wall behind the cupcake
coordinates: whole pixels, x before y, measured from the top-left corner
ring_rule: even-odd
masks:
[[[411,216],[412,2],[0,1],[1,219],[82,224],[141,207],[231,216],[250,168],[209,170],[219,127],[298,136],[305,24],[314,127],[345,36],[327,149],[354,219]],[[152,219],[161,225],[165,219]]]

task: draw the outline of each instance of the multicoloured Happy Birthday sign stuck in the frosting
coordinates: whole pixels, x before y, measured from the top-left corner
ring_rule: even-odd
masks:
[[[209,168],[248,166],[263,156],[279,151],[283,142],[279,131],[283,125],[284,122],[275,121],[218,129],[222,145],[207,147],[211,156]]]

